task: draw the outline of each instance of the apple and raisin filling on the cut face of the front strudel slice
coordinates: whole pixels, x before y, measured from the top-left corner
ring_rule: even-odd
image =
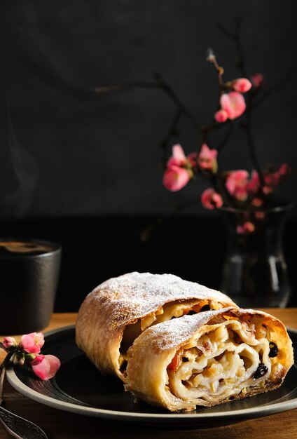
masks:
[[[226,317],[227,318],[227,317]],[[233,395],[275,382],[282,374],[278,349],[258,317],[235,318],[192,339],[167,367],[167,391],[196,405],[232,399]]]

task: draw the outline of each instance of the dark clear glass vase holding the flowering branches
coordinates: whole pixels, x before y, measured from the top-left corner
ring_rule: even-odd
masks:
[[[227,233],[221,291],[238,306],[284,307],[288,303],[291,289],[282,231],[292,207],[286,204],[263,210],[221,209]]]

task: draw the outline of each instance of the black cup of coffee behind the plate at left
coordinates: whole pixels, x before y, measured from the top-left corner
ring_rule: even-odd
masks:
[[[0,239],[0,333],[23,335],[46,327],[55,304],[61,245]]]

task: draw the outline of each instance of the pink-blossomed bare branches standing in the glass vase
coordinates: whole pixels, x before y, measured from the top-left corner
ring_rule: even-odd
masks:
[[[249,79],[247,78],[242,48],[241,25],[241,20],[237,18],[234,32],[231,32],[222,25],[217,25],[217,27],[235,43],[237,67],[240,69],[242,77],[225,81],[223,78],[225,69],[217,62],[212,49],[209,49],[207,54],[207,61],[214,67],[219,85],[216,112],[214,112],[214,117],[210,123],[202,125],[186,107],[184,102],[179,99],[172,87],[158,73],[153,74],[155,81],[130,81],[92,89],[95,93],[105,93],[136,87],[159,88],[170,97],[170,100],[177,107],[177,112],[174,114],[174,119],[167,135],[163,142],[161,142],[163,156],[165,155],[167,144],[174,135],[177,135],[177,126],[181,116],[185,116],[192,123],[195,130],[198,131],[200,142],[198,142],[195,152],[187,156],[180,144],[173,145],[172,156],[167,160],[163,175],[163,184],[170,191],[179,191],[188,182],[193,180],[194,177],[204,177],[212,187],[209,187],[209,189],[202,193],[201,202],[205,208],[211,210],[221,208],[223,205],[246,210],[263,209],[269,205],[271,195],[289,174],[289,166],[286,163],[283,163],[279,169],[268,168],[262,170],[256,156],[251,111],[273,91],[280,88],[284,82],[288,81],[296,69],[291,69],[291,72],[282,81],[279,81],[275,86],[263,92],[264,79],[262,74],[256,73],[251,75]],[[247,145],[253,168],[251,173],[247,170],[227,170],[223,172],[220,168],[219,155],[228,144],[237,119],[240,120],[240,127],[245,130],[247,135]],[[216,140],[215,147],[209,147],[210,134],[224,127],[227,129],[221,141],[218,142]],[[177,209],[175,212],[177,212]],[[255,215],[255,217],[263,219],[262,213],[259,212],[259,215]],[[240,230],[244,231],[244,233],[246,231],[254,231],[254,224],[249,222],[249,227],[242,226]]]

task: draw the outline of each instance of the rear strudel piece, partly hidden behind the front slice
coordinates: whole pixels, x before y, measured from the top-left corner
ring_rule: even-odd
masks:
[[[193,307],[198,312],[205,305],[236,306],[221,292],[172,274],[126,273],[102,283],[85,298],[78,311],[76,343],[101,372],[124,379],[120,363],[145,327]]]

